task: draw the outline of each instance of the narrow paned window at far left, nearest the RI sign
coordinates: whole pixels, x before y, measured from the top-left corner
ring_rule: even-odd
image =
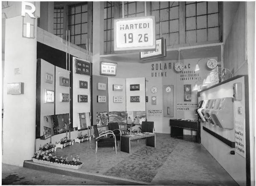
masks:
[[[53,31],[56,36],[63,38],[63,17],[64,17],[64,7],[54,8],[54,25]]]

